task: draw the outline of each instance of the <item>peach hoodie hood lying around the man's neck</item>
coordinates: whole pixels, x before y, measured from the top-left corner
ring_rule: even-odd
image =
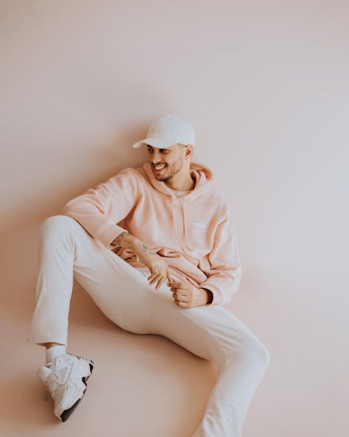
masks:
[[[186,195],[186,198],[196,197],[211,190],[214,185],[214,178],[211,170],[204,164],[199,164],[198,162],[191,162],[190,168],[191,175],[193,178],[195,178],[195,187]],[[147,179],[155,189],[163,194],[172,196],[172,190],[168,188],[165,182],[156,179],[153,171],[151,170],[151,164],[149,162],[145,162],[142,165],[142,169],[144,170]]]

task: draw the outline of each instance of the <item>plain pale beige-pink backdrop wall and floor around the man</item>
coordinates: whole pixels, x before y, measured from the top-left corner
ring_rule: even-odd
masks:
[[[66,424],[25,343],[41,222],[140,166],[131,144],[168,113],[193,123],[194,160],[235,212],[242,282],[225,306],[272,357],[244,437],[348,435],[348,14],[346,0],[0,1],[1,435],[191,437],[200,422],[214,366],[114,327],[78,285],[69,350],[96,372]]]

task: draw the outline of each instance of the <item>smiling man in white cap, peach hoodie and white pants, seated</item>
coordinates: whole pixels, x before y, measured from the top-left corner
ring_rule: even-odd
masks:
[[[149,127],[148,161],[66,203],[40,228],[29,341],[46,348],[38,371],[68,419],[93,361],[66,352],[73,277],[119,327],[159,334],[214,361],[218,381],[193,437],[238,437],[269,365],[265,346],[226,308],[241,264],[232,209],[211,171],[191,162],[193,126],[166,115]]]

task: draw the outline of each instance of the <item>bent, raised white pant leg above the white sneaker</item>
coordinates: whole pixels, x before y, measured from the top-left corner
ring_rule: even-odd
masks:
[[[71,217],[54,215],[40,227],[36,308],[27,341],[67,344],[73,278],[119,327],[149,332],[154,286]]]

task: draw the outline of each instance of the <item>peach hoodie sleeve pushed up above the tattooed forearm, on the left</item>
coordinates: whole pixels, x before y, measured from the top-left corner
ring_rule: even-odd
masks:
[[[68,201],[62,214],[72,217],[105,248],[112,249],[114,238],[126,230],[117,223],[130,213],[137,198],[137,177],[133,169],[128,168],[99,184],[96,189],[90,188]]]

